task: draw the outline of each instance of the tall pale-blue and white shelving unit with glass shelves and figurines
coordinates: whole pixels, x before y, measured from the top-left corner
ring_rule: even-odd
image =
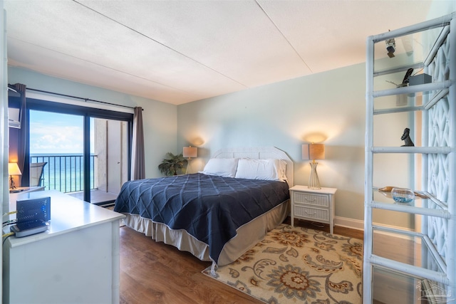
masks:
[[[388,294],[382,285],[393,288],[391,296],[396,300],[400,297],[401,303],[420,303],[423,298],[456,303],[455,18],[453,12],[367,39],[363,303],[385,301],[375,296],[376,288]],[[388,58],[385,41],[392,38],[396,52],[394,58]],[[400,83],[408,68],[432,76],[432,82],[386,87],[395,83],[393,80]],[[381,118],[385,115],[400,115],[417,133],[420,128],[421,137],[415,137],[419,145],[381,145],[385,140],[378,139],[380,132],[375,131],[375,125],[385,122]],[[387,130],[382,130],[382,136],[397,137],[403,131],[388,135]],[[402,157],[405,161],[392,167],[407,178],[395,179],[395,172],[385,173],[388,166],[375,157]],[[375,184],[385,179],[376,177],[378,171],[391,174],[391,181],[403,184]],[[378,192],[385,186],[410,188],[428,198],[397,204]],[[407,229],[374,224],[375,212],[405,215],[412,224]],[[380,245],[375,241],[379,234],[408,241],[415,248],[408,256],[380,255],[376,251]]]

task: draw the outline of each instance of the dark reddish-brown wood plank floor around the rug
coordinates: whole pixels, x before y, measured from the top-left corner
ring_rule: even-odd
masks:
[[[289,219],[286,221],[289,223]],[[329,226],[314,226],[329,232]],[[363,239],[363,231],[334,227],[334,234]],[[120,228],[120,303],[262,303],[201,273],[210,266],[128,227]]]

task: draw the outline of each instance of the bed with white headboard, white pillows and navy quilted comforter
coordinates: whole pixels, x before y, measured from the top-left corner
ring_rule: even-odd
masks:
[[[203,172],[125,182],[114,211],[125,214],[125,226],[223,266],[284,221],[292,185],[285,152],[227,148]]]

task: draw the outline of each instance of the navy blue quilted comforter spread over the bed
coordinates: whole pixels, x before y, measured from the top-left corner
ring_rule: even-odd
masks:
[[[236,229],[289,197],[286,182],[196,173],[126,182],[114,211],[185,229],[209,245],[209,256],[217,263]]]

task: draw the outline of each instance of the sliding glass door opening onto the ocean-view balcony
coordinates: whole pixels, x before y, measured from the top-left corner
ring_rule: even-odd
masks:
[[[129,177],[133,114],[42,100],[28,108],[28,161],[31,170],[44,164],[40,185],[112,204]]]

